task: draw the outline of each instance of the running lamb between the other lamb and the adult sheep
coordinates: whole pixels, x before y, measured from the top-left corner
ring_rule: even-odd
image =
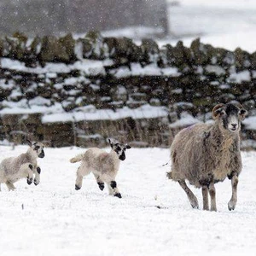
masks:
[[[125,150],[131,147],[127,144],[113,143],[110,139],[108,142],[111,146],[110,153],[100,148],[89,148],[84,154],[79,154],[70,160],[71,163],[81,161],[77,171],[75,189],[81,189],[83,177],[92,172],[99,189],[103,190],[104,183],[107,183],[109,195],[122,198],[115,177],[119,171],[120,160],[125,160]]]

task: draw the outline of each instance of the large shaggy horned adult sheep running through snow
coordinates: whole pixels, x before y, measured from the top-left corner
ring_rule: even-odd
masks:
[[[214,183],[231,180],[232,196],[229,210],[235,210],[238,176],[241,172],[240,137],[241,120],[247,110],[239,104],[218,104],[212,109],[210,124],[196,124],[179,131],[171,146],[172,170],[167,177],[177,181],[189,198],[192,207],[198,208],[198,201],[185,183],[201,188],[203,210],[217,211]]]

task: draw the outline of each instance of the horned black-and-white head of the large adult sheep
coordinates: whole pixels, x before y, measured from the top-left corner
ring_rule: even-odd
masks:
[[[212,118],[221,120],[223,128],[230,132],[239,132],[241,129],[241,120],[245,119],[247,110],[239,104],[218,104],[212,109]]]

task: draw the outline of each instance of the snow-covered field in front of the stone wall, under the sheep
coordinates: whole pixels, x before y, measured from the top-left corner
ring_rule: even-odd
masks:
[[[26,151],[1,146],[3,158]],[[83,148],[46,148],[41,183],[26,180],[0,193],[0,250],[7,255],[255,255],[255,152],[242,154],[238,203],[229,212],[230,181],[218,183],[218,212],[189,206],[177,183],[167,180],[169,149],[131,148],[117,183],[122,199],[98,189],[94,177],[74,189]],[[201,203],[201,191],[193,189]],[[23,209],[22,209],[23,206]]]

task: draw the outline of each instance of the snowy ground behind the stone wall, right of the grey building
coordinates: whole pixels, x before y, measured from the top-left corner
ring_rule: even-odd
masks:
[[[160,44],[183,40],[189,46],[200,37],[205,44],[226,49],[256,50],[256,1],[178,0],[176,3],[169,7],[172,36]]]

